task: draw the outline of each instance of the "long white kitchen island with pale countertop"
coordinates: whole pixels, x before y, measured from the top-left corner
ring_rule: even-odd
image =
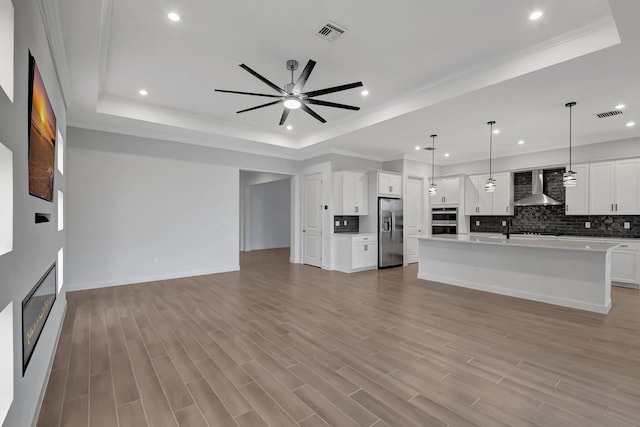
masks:
[[[482,234],[418,239],[419,279],[596,313],[611,309],[617,243]]]

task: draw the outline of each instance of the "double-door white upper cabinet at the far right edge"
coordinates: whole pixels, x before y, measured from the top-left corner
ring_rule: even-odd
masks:
[[[640,159],[589,165],[589,213],[640,214]]]

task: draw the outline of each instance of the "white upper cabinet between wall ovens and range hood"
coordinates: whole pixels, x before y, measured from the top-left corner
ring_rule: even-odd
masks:
[[[465,183],[465,215],[513,215],[513,181],[511,173],[493,174],[496,191],[487,193],[484,184],[489,175],[467,177]]]

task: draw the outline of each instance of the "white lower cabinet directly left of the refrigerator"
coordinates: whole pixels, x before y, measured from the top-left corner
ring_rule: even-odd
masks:
[[[378,236],[334,234],[335,269],[344,273],[378,268]]]

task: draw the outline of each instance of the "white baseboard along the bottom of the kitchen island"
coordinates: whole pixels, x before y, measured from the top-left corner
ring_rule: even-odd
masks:
[[[510,297],[523,298],[532,301],[544,302],[547,304],[561,305],[563,307],[577,308],[579,310],[592,311],[595,313],[607,314],[611,310],[611,301],[606,305],[593,304],[590,302],[577,301],[568,298],[555,297],[553,295],[536,294],[532,292],[518,291],[514,289],[500,288],[498,286],[491,286],[484,283],[470,282],[470,281],[456,281],[453,283],[446,277],[435,276],[426,273],[418,273],[418,279],[430,280],[432,282],[444,283],[446,285],[460,286],[468,289],[475,289],[478,291],[491,292],[494,294],[507,295]]]

